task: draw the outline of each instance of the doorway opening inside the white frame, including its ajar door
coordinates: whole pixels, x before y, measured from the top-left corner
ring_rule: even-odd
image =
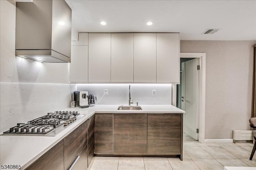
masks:
[[[180,58],[180,84],[177,85],[177,106],[184,114],[184,141],[198,140],[199,58]]]

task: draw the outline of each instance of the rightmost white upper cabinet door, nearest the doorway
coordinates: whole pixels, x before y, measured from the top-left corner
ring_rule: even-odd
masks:
[[[156,82],[180,82],[179,33],[156,34]]]

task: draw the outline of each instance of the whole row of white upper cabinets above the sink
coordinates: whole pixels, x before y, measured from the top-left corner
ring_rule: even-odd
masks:
[[[179,33],[79,33],[71,83],[180,82]]]

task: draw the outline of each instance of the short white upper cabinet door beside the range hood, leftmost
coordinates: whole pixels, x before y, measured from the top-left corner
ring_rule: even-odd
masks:
[[[71,46],[70,83],[88,83],[88,46]]]

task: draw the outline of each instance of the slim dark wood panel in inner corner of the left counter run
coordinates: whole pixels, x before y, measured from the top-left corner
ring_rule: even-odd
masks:
[[[94,156],[94,115],[87,120],[88,128],[88,166]]]

